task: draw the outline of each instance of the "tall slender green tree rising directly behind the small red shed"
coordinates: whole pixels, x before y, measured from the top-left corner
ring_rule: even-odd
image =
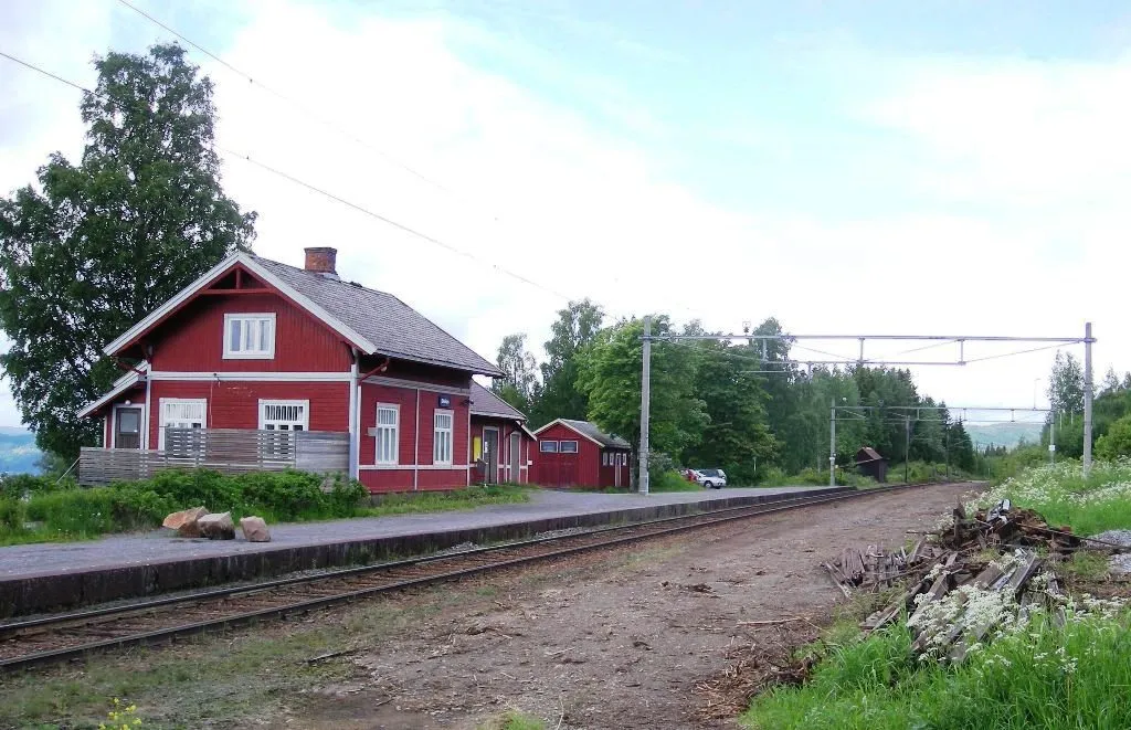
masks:
[[[554,418],[586,418],[589,402],[577,385],[577,355],[594,340],[604,319],[601,307],[589,299],[570,302],[558,312],[542,364],[542,394],[530,412],[534,427]]]

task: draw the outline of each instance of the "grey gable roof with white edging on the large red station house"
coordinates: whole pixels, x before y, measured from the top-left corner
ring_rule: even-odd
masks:
[[[137,340],[193,294],[236,266],[259,276],[366,355],[387,355],[482,375],[502,374],[472,348],[391,294],[243,252],[216,264],[107,345],[106,355],[114,355]]]

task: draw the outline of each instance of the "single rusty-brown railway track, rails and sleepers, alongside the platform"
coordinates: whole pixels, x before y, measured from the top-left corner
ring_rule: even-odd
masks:
[[[10,671],[75,659],[90,652],[174,641],[379,593],[917,486],[922,485],[783,497],[749,506],[7,622],[0,624],[0,670]]]

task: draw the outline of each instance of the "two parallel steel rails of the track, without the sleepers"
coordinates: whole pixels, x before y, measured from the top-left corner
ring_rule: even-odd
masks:
[[[929,484],[946,484],[946,483],[929,483]],[[951,483],[952,484],[952,483]],[[46,651],[34,652],[29,654],[23,654],[18,657],[10,657],[7,659],[0,659],[0,670],[15,670],[31,668],[35,666],[54,663],[68,659],[74,659],[88,653],[105,651],[109,649],[120,649],[130,645],[138,644],[153,644],[158,641],[172,641],[179,636],[187,636],[207,632],[209,629],[226,629],[235,626],[241,626],[244,624],[253,623],[259,619],[266,618],[282,618],[288,614],[307,612],[310,610],[316,610],[320,608],[327,608],[338,603],[347,603],[363,598],[369,598],[379,593],[386,593],[397,590],[403,590],[407,588],[417,588],[431,585],[434,583],[458,580],[467,577],[470,575],[477,575],[481,573],[486,573],[490,571],[502,570],[507,567],[513,567],[519,565],[528,565],[539,560],[552,559],[556,557],[564,557],[570,555],[577,555],[580,553],[597,550],[620,545],[627,545],[630,542],[636,542],[640,540],[646,540],[656,537],[663,537],[667,535],[675,535],[680,532],[685,532],[689,530],[713,527],[717,524],[724,524],[728,522],[734,522],[737,520],[751,519],[763,514],[775,514],[778,512],[785,512],[788,510],[796,510],[806,506],[815,506],[821,504],[828,504],[834,502],[843,502],[847,499],[855,499],[860,497],[865,497],[874,494],[886,494],[891,492],[899,492],[905,489],[910,489],[915,487],[926,486],[923,484],[909,484],[909,485],[897,485],[892,487],[879,487],[874,489],[856,490],[856,492],[841,492],[836,494],[822,494],[815,496],[801,496],[801,497],[787,497],[784,499],[774,499],[763,502],[754,505],[746,505],[741,507],[727,507],[724,510],[714,510],[709,512],[700,512],[691,515],[677,515],[673,518],[663,518],[659,520],[650,520],[646,522],[633,522],[629,524],[614,525],[608,528],[599,528],[596,530],[588,530],[585,532],[576,532],[566,536],[554,536],[547,538],[537,538],[533,540],[524,540],[520,542],[507,542],[498,546],[487,546],[484,548],[475,548],[472,550],[465,550],[460,553],[450,553],[447,555],[435,555],[426,556],[423,558],[414,558],[408,560],[397,560],[392,563],[381,563],[378,565],[361,566],[356,568],[346,568],[343,571],[333,571],[329,573],[321,573],[318,575],[300,576],[294,579],[283,579],[278,581],[268,581],[264,583],[257,583],[253,585],[242,585],[232,589],[221,589],[215,591],[207,591],[202,593],[193,593],[189,596],[180,596],[166,599],[157,599],[153,601],[146,601],[144,603],[132,603],[120,607],[111,607],[107,609],[96,609],[93,611],[83,611],[78,614],[66,614],[50,616],[38,619],[32,619],[28,622],[19,622],[15,624],[6,624],[0,626],[0,632],[8,634],[14,634],[9,636],[10,638],[17,638],[19,633],[28,628],[41,628],[51,625],[69,626],[76,623],[80,623],[86,619],[102,618],[113,615],[132,615],[132,614],[144,614],[148,609],[156,607],[170,607],[175,605],[192,605],[202,603],[208,600],[225,599],[225,598],[238,598],[241,596],[252,596],[254,593],[262,593],[275,588],[280,588],[291,584],[314,584],[322,581],[329,581],[333,579],[338,579],[343,576],[359,575],[359,574],[375,574],[380,572],[391,571],[395,567],[412,567],[418,566],[421,564],[434,563],[443,559],[461,559],[468,556],[483,555],[487,553],[500,553],[503,550],[516,550],[520,548],[528,548],[537,545],[543,545],[551,541],[570,541],[584,538],[593,538],[595,536],[599,537],[604,533],[613,532],[625,532],[636,530],[634,535],[625,535],[622,537],[615,537],[607,540],[601,540],[596,542],[588,542],[584,545],[575,545],[569,547],[563,547],[556,550],[550,550],[546,553],[538,553],[535,555],[519,556],[502,560],[495,560],[492,563],[483,565],[473,565],[469,567],[458,568],[454,571],[446,571],[437,573],[433,575],[424,575],[418,577],[409,577],[405,580],[395,580],[390,583],[382,583],[380,585],[373,585],[368,588],[362,588],[359,590],[349,590],[344,592],[334,593],[325,597],[310,598],[305,600],[285,602],[279,606],[271,606],[267,608],[254,609],[250,611],[239,612],[232,616],[218,617],[215,619],[207,619],[201,622],[192,622],[188,624],[181,624],[164,628],[158,628],[149,632],[140,632],[136,634],[130,634],[127,636],[106,638],[102,641],[89,642],[85,644],[79,644],[75,646],[67,646],[62,649],[53,649]],[[735,512],[741,512],[741,514],[732,514]],[[664,524],[670,524],[672,522],[683,521],[685,524],[675,524],[672,527],[662,527],[662,529],[653,531],[640,531],[641,528],[658,527]],[[3,638],[3,637],[0,637]]]

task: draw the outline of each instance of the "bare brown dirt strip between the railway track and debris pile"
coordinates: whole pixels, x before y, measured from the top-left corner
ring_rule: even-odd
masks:
[[[819,564],[849,545],[900,545],[972,488],[879,494],[452,585],[467,599],[344,658],[352,678],[307,694],[277,727],[473,729],[508,709],[556,730],[735,727],[751,684],[845,602]]]

